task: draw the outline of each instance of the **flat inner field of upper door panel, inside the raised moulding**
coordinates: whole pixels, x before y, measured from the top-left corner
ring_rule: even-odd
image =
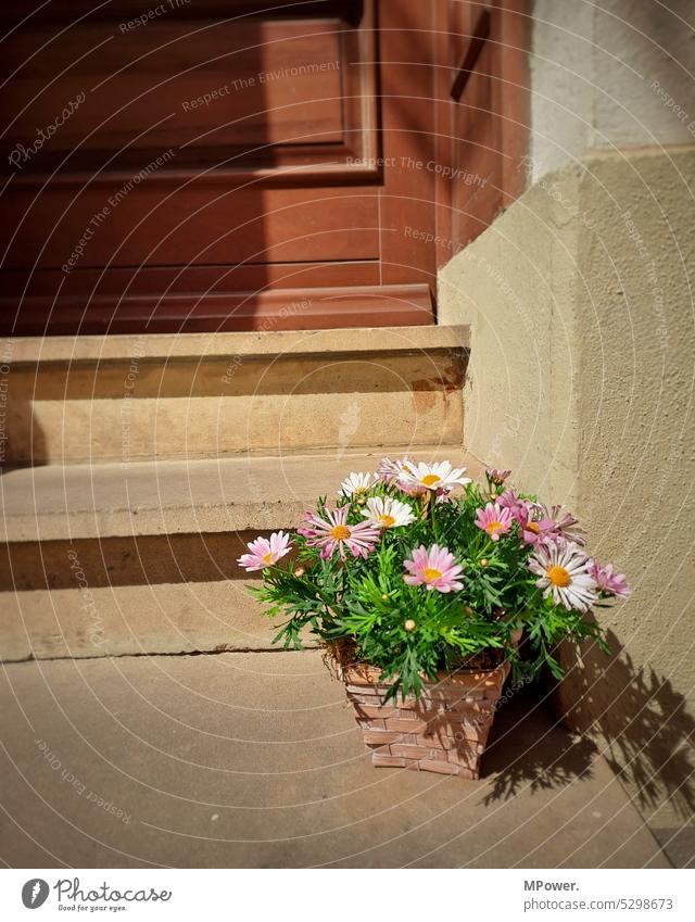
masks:
[[[7,111],[20,113],[5,135],[11,148],[66,101],[84,99],[33,168],[52,170],[78,146],[65,164],[71,170],[98,169],[104,161],[97,152],[121,152],[111,167],[132,166],[141,152],[175,147],[182,169],[197,166],[201,151],[216,151],[216,160],[230,149],[262,156],[266,146],[343,140],[339,21],[164,21],[127,41],[112,23],[86,22],[71,29],[70,42],[23,67],[52,35],[45,26],[20,37],[0,67],[3,80],[17,71],[5,94]],[[75,63],[76,50],[83,56]],[[291,81],[282,76],[290,73]]]

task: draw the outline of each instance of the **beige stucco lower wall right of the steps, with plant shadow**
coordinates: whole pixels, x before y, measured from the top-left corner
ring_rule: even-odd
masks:
[[[608,741],[645,813],[661,805],[657,826],[693,809],[693,189],[695,147],[585,155],[441,278],[440,321],[472,326],[467,447],[568,504],[634,588],[599,615],[616,656],[568,649],[558,703]]]

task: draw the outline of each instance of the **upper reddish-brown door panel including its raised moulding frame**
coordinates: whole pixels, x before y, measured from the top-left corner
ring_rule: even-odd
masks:
[[[20,175],[56,170],[74,181],[83,170],[141,167],[170,147],[176,162],[160,175],[245,166],[248,179],[263,164],[336,163],[376,150],[372,29],[361,48],[339,18],[179,15],[125,37],[123,23],[87,20],[68,28],[70,41],[55,41],[59,25],[20,30],[0,62],[9,148],[30,150],[36,126],[71,110],[50,143],[17,161]],[[349,94],[364,105],[346,105]]]

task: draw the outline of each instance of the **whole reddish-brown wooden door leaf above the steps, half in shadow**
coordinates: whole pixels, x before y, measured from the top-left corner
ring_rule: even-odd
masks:
[[[267,288],[336,287],[338,305],[382,287],[377,4],[268,7],[4,8],[5,332],[65,331],[80,302],[76,329],[187,329],[181,299],[236,329],[254,326],[240,302],[281,304]],[[417,266],[393,281],[427,285]],[[421,291],[394,296],[431,320]],[[321,303],[317,326],[350,313]]]

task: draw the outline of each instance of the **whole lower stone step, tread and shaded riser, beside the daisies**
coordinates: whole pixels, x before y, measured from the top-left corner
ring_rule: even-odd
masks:
[[[408,451],[480,476],[459,447]],[[273,648],[277,626],[263,617],[237,558],[260,532],[296,527],[317,496],[334,495],[350,470],[374,470],[382,454],[7,472],[0,658]]]

